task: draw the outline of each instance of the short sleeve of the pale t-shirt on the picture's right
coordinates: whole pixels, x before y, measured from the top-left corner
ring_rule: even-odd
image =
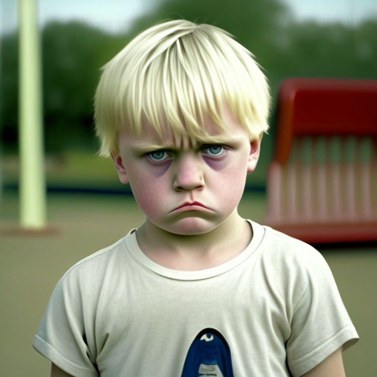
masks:
[[[293,376],[301,376],[343,346],[358,340],[335,280],[322,255],[313,249],[299,261],[305,281],[293,307],[291,335],[286,343]]]

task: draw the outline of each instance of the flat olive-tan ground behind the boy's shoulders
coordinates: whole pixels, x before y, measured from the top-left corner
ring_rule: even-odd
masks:
[[[240,214],[263,222],[265,197],[249,193]],[[6,191],[0,207],[0,377],[49,376],[50,362],[31,343],[54,285],[75,262],[123,237],[143,221],[130,195],[48,196],[50,231],[16,234],[18,200]],[[377,248],[321,250],[360,342],[346,351],[348,377],[376,377]]]

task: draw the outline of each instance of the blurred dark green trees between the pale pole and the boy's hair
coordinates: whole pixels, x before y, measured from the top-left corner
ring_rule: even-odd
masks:
[[[43,31],[46,146],[97,149],[93,95],[103,66],[128,42],[81,23],[53,23]]]

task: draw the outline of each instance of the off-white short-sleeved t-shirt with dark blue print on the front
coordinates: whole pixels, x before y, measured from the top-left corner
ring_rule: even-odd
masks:
[[[135,230],[57,283],[33,347],[76,377],[301,376],[358,335],[321,254],[250,221],[205,270],[164,268]]]

